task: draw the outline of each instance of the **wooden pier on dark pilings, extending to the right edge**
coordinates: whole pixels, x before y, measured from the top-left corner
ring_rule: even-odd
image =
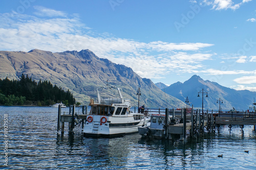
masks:
[[[148,111],[150,112],[150,111]],[[156,112],[153,111],[153,112]],[[160,111],[163,114],[163,111]],[[187,131],[191,138],[198,138],[204,135],[204,130],[208,133],[215,133],[216,128],[220,125],[229,125],[231,129],[232,125],[240,125],[243,130],[244,125],[253,125],[255,131],[256,126],[256,113],[248,112],[236,112],[236,113],[217,113],[213,110],[202,113],[200,109],[191,109],[188,113],[186,109],[179,111],[175,109],[165,109],[165,115],[172,115],[172,117],[179,118],[182,123],[170,125],[166,119],[166,138],[173,139],[179,137],[181,140],[187,137]]]

